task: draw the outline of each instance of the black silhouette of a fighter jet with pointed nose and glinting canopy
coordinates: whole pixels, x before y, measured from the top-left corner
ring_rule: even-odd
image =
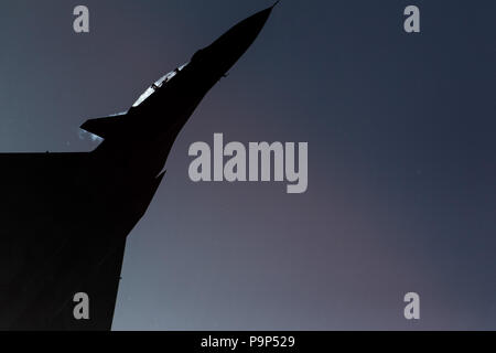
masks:
[[[127,235],[175,138],[258,36],[273,7],[155,82],[125,114],[87,120],[90,152],[0,154],[0,330],[110,330]],[[77,320],[76,293],[89,319]]]

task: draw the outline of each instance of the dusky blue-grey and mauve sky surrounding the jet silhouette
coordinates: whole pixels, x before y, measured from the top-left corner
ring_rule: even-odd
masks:
[[[89,33],[73,30],[78,4]],[[0,152],[93,150],[84,121],[127,110],[271,4],[10,1]],[[403,31],[409,4],[420,33]],[[281,1],[180,133],[129,235],[114,330],[496,330],[495,13],[495,1]],[[188,147],[215,132],[308,142],[308,191],[192,182]],[[411,291],[418,321],[403,317]]]

